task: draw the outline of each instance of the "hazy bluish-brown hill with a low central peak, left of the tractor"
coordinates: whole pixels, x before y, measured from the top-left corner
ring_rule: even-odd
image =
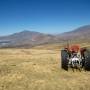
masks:
[[[8,41],[9,43],[6,43],[6,47],[32,47],[38,44],[53,42],[54,39],[55,36],[53,35],[24,30],[19,33],[0,37],[0,42],[3,42],[5,46],[5,42]],[[1,43],[1,46],[3,43]]]

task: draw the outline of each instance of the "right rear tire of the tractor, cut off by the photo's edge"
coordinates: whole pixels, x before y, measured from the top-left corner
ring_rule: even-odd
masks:
[[[85,56],[84,68],[85,68],[85,70],[90,71],[90,51],[88,51],[88,50],[85,51],[84,56]]]

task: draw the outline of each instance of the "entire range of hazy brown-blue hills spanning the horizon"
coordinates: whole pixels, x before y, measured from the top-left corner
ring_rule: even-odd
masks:
[[[1,36],[0,47],[32,47],[40,44],[60,43],[66,40],[71,42],[90,42],[90,25],[58,35],[24,30],[12,35]]]

